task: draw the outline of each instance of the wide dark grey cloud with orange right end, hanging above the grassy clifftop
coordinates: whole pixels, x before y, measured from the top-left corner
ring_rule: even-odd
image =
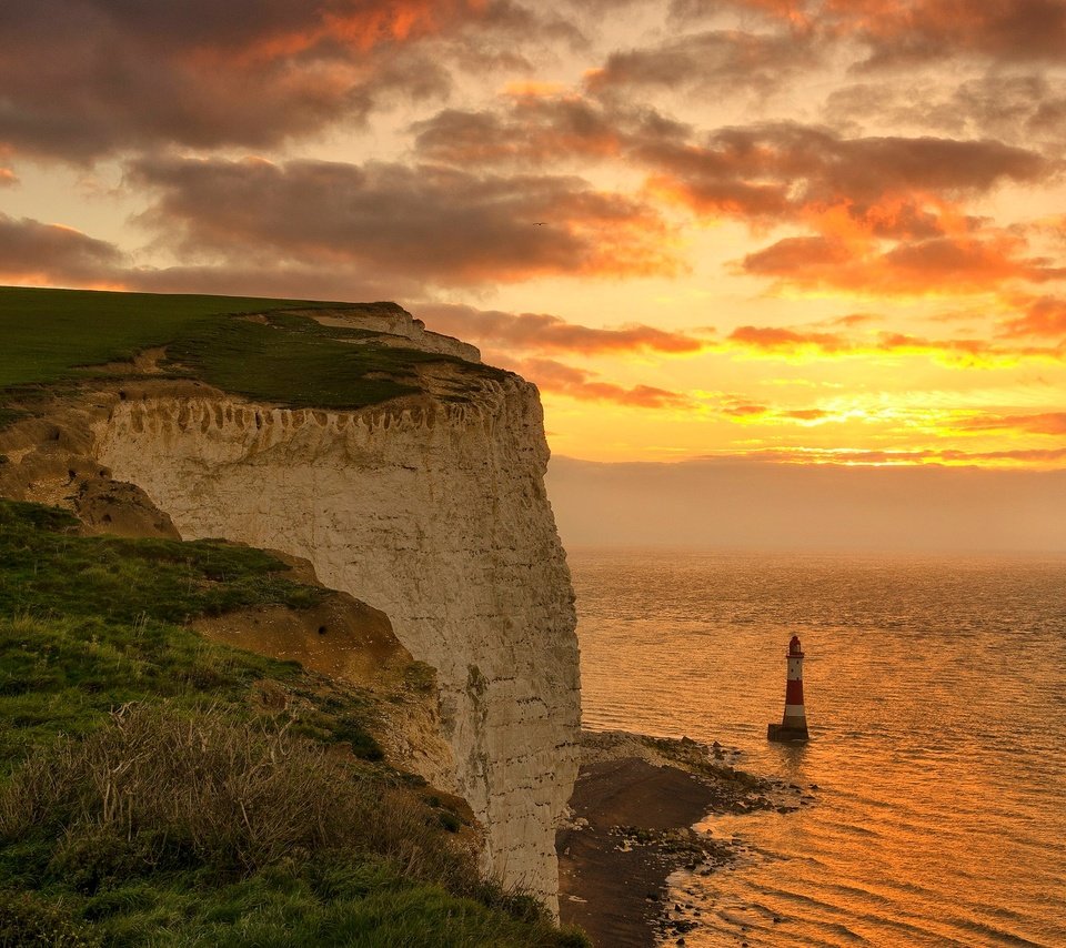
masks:
[[[580,178],[145,158],[130,179],[155,195],[145,225],[183,254],[223,263],[281,260],[446,286],[681,266],[656,211]]]

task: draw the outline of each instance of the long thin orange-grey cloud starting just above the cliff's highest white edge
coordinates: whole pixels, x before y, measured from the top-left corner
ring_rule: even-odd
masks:
[[[658,352],[680,355],[695,354],[704,349],[704,341],[696,336],[642,324],[593,329],[547,313],[505,313],[445,303],[423,303],[418,313],[435,332],[524,352],[582,355]]]

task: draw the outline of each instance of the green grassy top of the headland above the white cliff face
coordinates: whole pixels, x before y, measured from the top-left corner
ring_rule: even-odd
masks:
[[[382,304],[369,304],[370,307]],[[0,288],[0,425],[43,394],[101,377],[100,366],[163,349],[154,377],[193,379],[290,407],[354,410],[420,391],[419,366],[504,373],[453,356],[379,345],[365,330],[294,311],[344,303]],[[356,344],[358,343],[358,344]],[[130,373],[135,370],[131,365]],[[112,370],[108,377],[114,376]]]

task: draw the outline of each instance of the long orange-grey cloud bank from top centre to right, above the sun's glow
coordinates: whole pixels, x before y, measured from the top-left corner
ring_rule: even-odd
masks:
[[[993,140],[845,138],[796,122],[718,129],[702,140],[653,109],[546,91],[505,108],[445,111],[415,127],[416,148],[461,168],[617,161],[646,172],[650,200],[752,229],[813,234],[748,254],[743,272],[801,285],[926,293],[1053,279],[1024,238],[988,229],[965,199],[1036,184],[1057,169]],[[894,241],[885,246],[883,241]],[[937,282],[941,281],[941,282]]]

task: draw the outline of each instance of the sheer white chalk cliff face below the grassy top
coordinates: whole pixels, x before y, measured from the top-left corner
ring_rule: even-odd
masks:
[[[452,789],[485,826],[486,868],[554,907],[580,697],[540,402],[514,376],[462,400],[432,387],[358,412],[149,387],[99,417],[93,452],[183,537],[305,557],[385,612],[438,669]]]

